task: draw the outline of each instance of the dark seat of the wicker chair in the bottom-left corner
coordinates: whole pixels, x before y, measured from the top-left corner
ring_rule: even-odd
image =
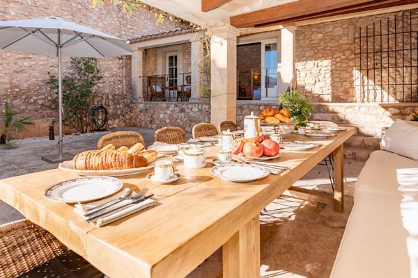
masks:
[[[20,276],[20,278],[45,277],[102,278],[103,274],[81,256],[68,251]]]

